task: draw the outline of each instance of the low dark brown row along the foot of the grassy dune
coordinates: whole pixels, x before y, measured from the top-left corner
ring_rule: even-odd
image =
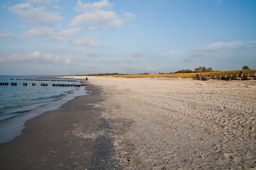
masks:
[[[216,79],[216,80],[255,80],[256,73],[253,74],[218,74],[218,75],[207,75],[207,74],[197,74],[195,79],[198,80],[208,80],[208,79]]]

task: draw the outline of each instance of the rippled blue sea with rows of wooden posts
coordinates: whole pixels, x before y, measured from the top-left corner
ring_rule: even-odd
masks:
[[[0,144],[21,135],[27,120],[58,110],[76,96],[89,95],[86,86],[79,86],[84,81],[0,75]]]

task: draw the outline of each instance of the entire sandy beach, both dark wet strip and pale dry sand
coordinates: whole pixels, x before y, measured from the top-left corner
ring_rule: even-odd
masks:
[[[0,145],[1,169],[256,168],[256,81],[88,78]]]

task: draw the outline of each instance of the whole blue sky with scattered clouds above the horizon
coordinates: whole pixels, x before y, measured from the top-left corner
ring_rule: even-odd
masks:
[[[0,74],[256,69],[255,0],[0,3]]]

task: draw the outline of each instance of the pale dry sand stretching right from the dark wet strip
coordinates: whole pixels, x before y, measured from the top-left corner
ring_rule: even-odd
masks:
[[[256,168],[256,81],[88,78],[122,169]]]

